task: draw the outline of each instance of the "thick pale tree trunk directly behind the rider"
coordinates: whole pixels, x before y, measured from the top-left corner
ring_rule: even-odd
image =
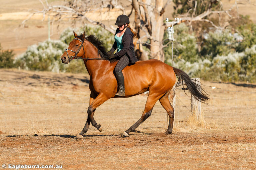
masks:
[[[147,44],[147,47],[150,49],[150,58],[164,62],[162,47],[165,29],[163,27],[164,18],[162,15],[164,7],[163,0],[142,0],[142,2],[143,4],[139,4],[138,0],[132,1],[132,6],[135,9],[135,30],[138,33],[137,38],[140,39],[146,34],[146,37],[150,39],[150,44]],[[139,56],[140,60],[147,60],[149,58],[147,53],[142,49],[140,42],[136,44],[135,49],[136,55]]]

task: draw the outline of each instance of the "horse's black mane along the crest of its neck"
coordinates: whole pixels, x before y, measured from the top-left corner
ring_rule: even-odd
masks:
[[[81,34],[80,36],[77,36],[77,38],[83,40],[83,34]],[[110,56],[107,54],[107,49],[104,46],[103,40],[100,40],[98,37],[92,34],[88,35],[84,39],[91,42],[98,49],[98,55],[100,55],[101,58],[104,58],[105,60],[109,60],[110,62],[117,61],[116,59],[109,59]]]

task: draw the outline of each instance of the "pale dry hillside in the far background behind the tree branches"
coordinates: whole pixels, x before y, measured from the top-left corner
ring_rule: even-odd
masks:
[[[52,5],[63,5],[65,1],[63,0],[48,0],[48,2]],[[127,1],[128,2],[128,1]],[[122,1],[122,3],[126,4],[126,1]],[[250,15],[251,19],[254,23],[256,23],[256,18],[253,17],[256,15],[255,11],[255,0],[240,0],[238,3],[238,11],[243,15]],[[231,6],[234,5],[235,0],[223,0],[224,10],[228,10]],[[253,5],[254,4],[254,5]],[[32,10],[31,10],[32,9]],[[9,0],[3,1],[0,7],[0,13],[12,13],[12,12],[33,12],[35,10],[42,10],[43,6],[40,1],[35,0]],[[127,7],[126,9],[130,9]],[[168,9],[164,18],[168,17],[172,18],[173,6],[172,3],[166,8]],[[8,15],[12,16],[11,14]],[[130,17],[133,20],[133,15]],[[1,46],[4,50],[12,49],[16,56],[21,53],[24,53],[29,45],[36,44],[38,42],[42,42],[48,38],[48,25],[47,21],[39,20],[30,20],[27,22],[25,28],[19,27],[22,19],[19,19],[19,16],[14,16],[11,20],[2,20],[0,25],[0,37],[4,37],[0,39]],[[115,21],[102,21],[104,24],[109,25],[110,23],[114,23]],[[62,21],[60,26],[58,27],[58,23],[54,22],[51,25],[51,39],[59,39],[61,32],[67,27],[79,27],[82,24],[77,22],[74,24],[70,21]],[[114,25],[113,25],[114,26]],[[7,40],[7,41],[6,41]]]

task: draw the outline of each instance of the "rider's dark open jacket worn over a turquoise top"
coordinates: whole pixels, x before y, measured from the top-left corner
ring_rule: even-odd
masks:
[[[118,33],[118,31],[119,29],[117,28],[115,35]],[[123,45],[123,49],[117,52],[116,56],[121,57],[126,54],[129,57],[131,63],[135,63],[136,61],[138,61],[134,53],[133,33],[128,27],[126,28],[124,35],[122,37],[122,45]],[[115,41],[110,50],[111,53],[113,53],[116,50],[116,48],[117,48],[117,43]]]

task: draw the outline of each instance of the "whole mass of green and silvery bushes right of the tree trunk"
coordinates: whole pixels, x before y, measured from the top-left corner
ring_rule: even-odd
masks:
[[[204,34],[199,51],[197,45],[199,40],[193,34],[189,34],[185,24],[176,26],[175,32],[177,33],[175,35],[177,43],[174,45],[175,67],[184,70],[192,77],[206,80],[256,81],[256,44],[248,45],[240,51],[241,44],[247,44],[246,41],[252,44],[254,39],[246,36],[242,38],[231,30],[216,30]],[[165,57],[166,63],[170,64],[170,44],[165,49]]]

